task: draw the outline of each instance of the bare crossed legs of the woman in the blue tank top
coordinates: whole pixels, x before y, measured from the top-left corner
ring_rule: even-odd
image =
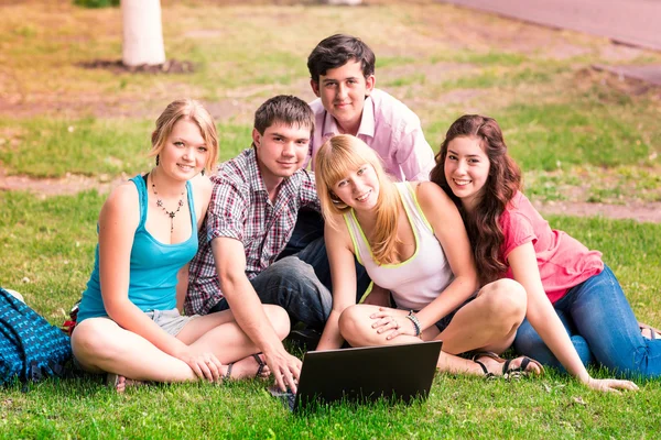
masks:
[[[275,333],[284,339],[290,329],[286,312],[275,306],[263,307]],[[201,351],[214,353],[224,364],[223,374],[227,371],[227,364],[239,361],[232,370],[235,377],[246,375],[245,371],[256,364],[250,355],[259,351],[229,310],[191,320],[176,338]],[[76,360],[89,372],[116,373],[137,381],[154,382],[198,378],[185,362],[122,329],[109,318],[90,318],[76,326],[72,348]]]

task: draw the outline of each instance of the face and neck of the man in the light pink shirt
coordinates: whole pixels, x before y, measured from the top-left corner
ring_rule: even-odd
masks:
[[[311,80],[312,90],[322,99],[324,109],[335,118],[342,133],[356,135],[360,128],[365,98],[375,88],[375,76],[367,78],[357,61],[332,68],[319,75],[316,82]]]

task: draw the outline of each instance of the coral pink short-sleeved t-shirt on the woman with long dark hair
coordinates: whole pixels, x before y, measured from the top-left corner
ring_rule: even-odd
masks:
[[[510,252],[521,244],[532,242],[542,285],[551,302],[557,301],[570,288],[604,270],[600,252],[590,251],[565,232],[551,229],[549,222],[520,191],[500,216],[500,227],[505,234],[500,255],[508,265],[506,276],[513,279],[512,268],[508,264]]]

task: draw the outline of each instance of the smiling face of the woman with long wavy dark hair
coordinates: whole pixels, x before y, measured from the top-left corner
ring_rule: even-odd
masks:
[[[470,210],[479,201],[489,177],[489,157],[475,136],[459,136],[449,141],[444,172],[447,185]]]

